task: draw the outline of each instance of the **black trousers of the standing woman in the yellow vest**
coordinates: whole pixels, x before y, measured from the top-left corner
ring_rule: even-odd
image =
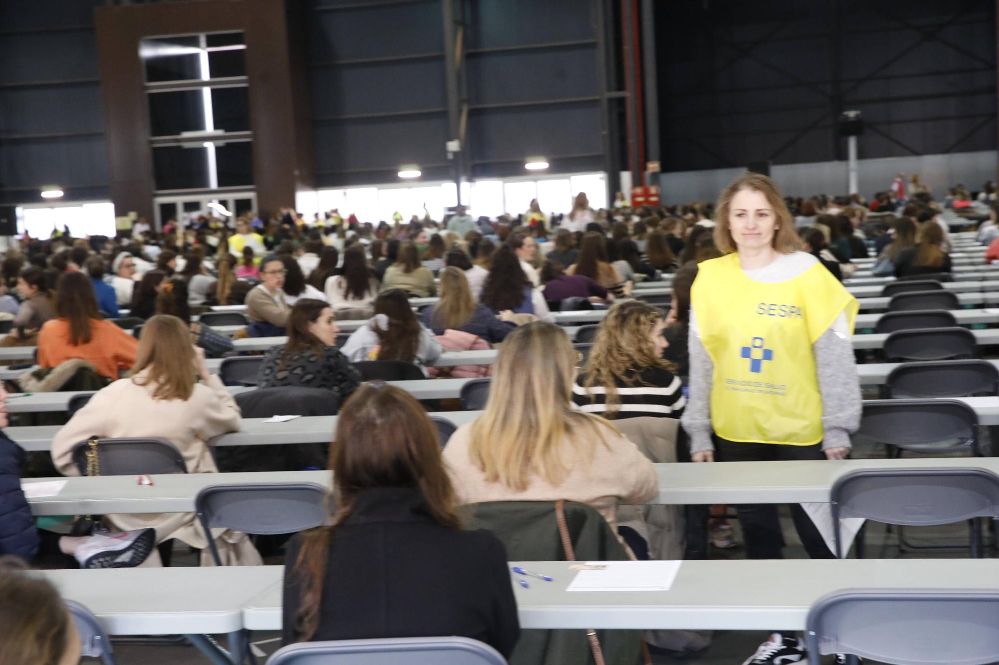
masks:
[[[716,461],[790,461],[825,459],[822,444],[784,445],[780,443],[741,443],[714,437]],[[791,517],[801,543],[813,559],[834,558],[814,522],[798,503],[791,504]],[[747,559],[782,559],[784,536],[780,530],[777,505],[740,503],[736,506]]]

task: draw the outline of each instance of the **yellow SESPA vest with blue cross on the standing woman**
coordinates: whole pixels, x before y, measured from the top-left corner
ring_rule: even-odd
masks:
[[[730,441],[811,445],[822,440],[812,344],[859,303],[822,264],[778,284],[750,280],[737,254],[698,266],[690,303],[714,361],[711,424]]]

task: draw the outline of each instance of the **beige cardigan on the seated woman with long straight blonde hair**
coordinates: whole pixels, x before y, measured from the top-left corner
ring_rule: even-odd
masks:
[[[587,466],[581,454],[568,454],[576,461],[560,485],[544,478],[530,478],[523,491],[510,489],[499,482],[487,482],[485,473],[469,457],[469,433],[472,423],[458,428],[444,449],[445,462],[451,474],[458,499],[462,503],[483,501],[555,501],[565,499],[585,503],[596,509],[616,533],[617,504],[643,503],[655,496],[659,482],[652,462],[624,436],[603,429],[606,445],[594,433],[572,432],[565,442],[569,449],[582,450],[588,440],[593,442],[593,459]]]

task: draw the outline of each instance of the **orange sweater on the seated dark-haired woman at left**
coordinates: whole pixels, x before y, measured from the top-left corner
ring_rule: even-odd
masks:
[[[60,362],[81,358],[92,362],[97,373],[118,379],[119,369],[131,369],[135,362],[138,340],[107,321],[90,322],[90,342],[73,345],[69,342],[69,322],[53,319],[38,333],[38,364],[54,367]]]

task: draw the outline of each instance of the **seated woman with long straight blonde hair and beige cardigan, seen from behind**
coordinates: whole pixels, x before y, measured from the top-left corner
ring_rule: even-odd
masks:
[[[506,336],[485,412],[444,449],[460,500],[586,503],[616,532],[618,503],[655,496],[655,467],[637,446],[607,420],[573,408],[575,360],[553,324]]]

